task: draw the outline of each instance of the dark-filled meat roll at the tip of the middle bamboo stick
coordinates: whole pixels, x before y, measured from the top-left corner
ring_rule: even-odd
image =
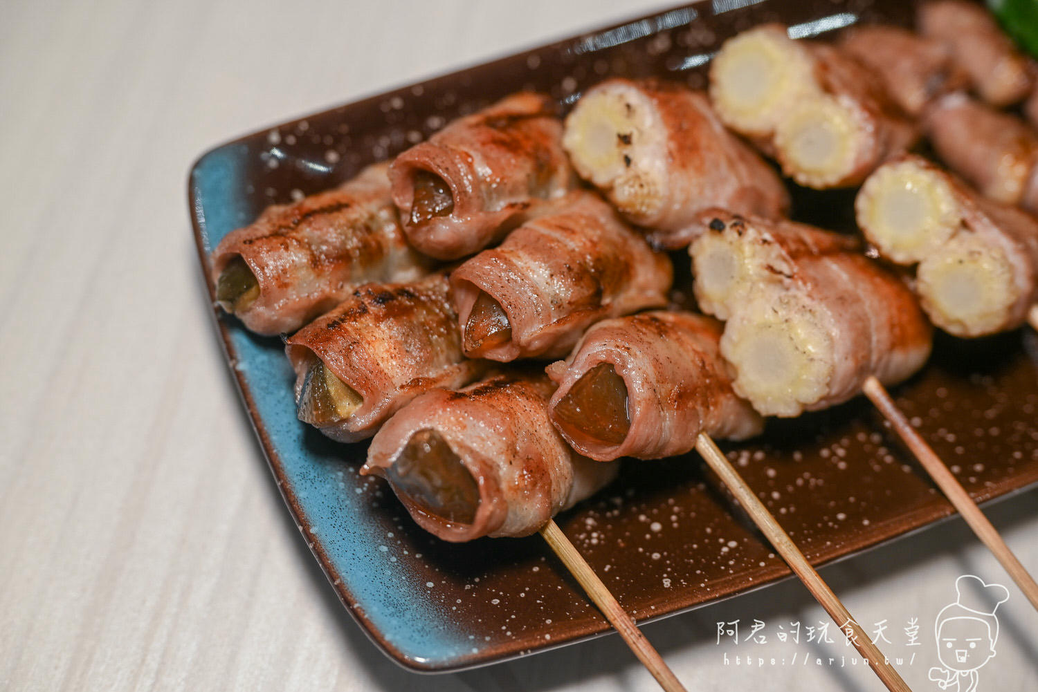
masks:
[[[551,421],[581,454],[660,459],[683,454],[706,433],[741,440],[764,421],[732,390],[720,357],[721,325],[691,312],[657,310],[605,320],[565,361]]]

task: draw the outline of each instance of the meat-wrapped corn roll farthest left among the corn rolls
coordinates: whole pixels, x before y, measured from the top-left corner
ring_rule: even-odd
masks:
[[[705,93],[679,84],[598,84],[566,118],[563,145],[577,173],[662,247],[687,245],[708,206],[767,217],[789,209],[771,167],[725,129]]]

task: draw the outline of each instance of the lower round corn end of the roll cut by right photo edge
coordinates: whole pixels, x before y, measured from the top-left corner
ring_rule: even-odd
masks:
[[[1005,252],[968,232],[920,262],[918,279],[923,309],[956,336],[1001,331],[1021,297]]]

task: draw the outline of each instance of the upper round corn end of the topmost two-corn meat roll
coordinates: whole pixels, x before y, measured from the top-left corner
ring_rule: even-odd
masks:
[[[817,91],[811,58],[776,27],[750,29],[725,41],[710,63],[710,99],[730,128],[770,135],[786,112]]]

